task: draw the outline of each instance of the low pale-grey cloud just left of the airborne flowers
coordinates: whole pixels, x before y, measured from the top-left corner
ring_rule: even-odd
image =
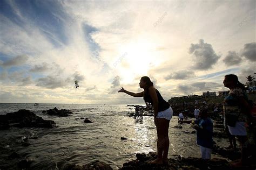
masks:
[[[48,89],[56,89],[67,86],[68,79],[62,80],[59,77],[47,76],[37,80],[36,86]]]

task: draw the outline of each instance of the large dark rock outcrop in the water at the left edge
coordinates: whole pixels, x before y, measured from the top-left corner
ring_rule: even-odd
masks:
[[[51,120],[44,120],[30,110],[21,109],[6,115],[0,115],[0,130],[9,129],[10,126],[18,128],[55,128],[56,123]]]

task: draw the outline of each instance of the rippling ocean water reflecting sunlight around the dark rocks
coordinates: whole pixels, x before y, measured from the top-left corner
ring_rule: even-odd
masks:
[[[57,117],[43,114],[43,110],[69,109],[73,112],[69,117]],[[32,169],[58,169],[71,163],[84,165],[93,160],[104,161],[113,169],[123,166],[124,162],[136,159],[136,153],[157,151],[157,132],[153,117],[144,116],[143,120],[128,117],[127,112],[134,112],[134,107],[126,104],[6,104],[0,103],[0,115],[28,109],[43,119],[50,119],[58,124],[57,128],[10,128],[0,130],[0,169],[14,168],[16,160],[8,160],[12,152],[32,160]],[[93,123],[84,123],[83,118]],[[189,124],[183,129],[173,126],[178,124],[178,117],[173,116],[170,122],[169,157],[200,158],[196,144],[196,134]],[[22,146],[22,137],[35,134],[37,139],[29,139],[29,146]],[[121,140],[121,137],[127,140]],[[217,145],[228,146],[227,139],[214,138]],[[212,158],[222,158],[212,154]],[[2,168],[1,168],[2,166]]]

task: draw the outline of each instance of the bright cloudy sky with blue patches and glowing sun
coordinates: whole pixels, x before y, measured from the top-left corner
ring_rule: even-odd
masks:
[[[137,104],[256,72],[256,1],[0,1],[0,103]],[[75,88],[75,80],[79,88]]]

